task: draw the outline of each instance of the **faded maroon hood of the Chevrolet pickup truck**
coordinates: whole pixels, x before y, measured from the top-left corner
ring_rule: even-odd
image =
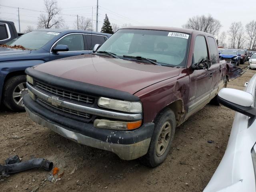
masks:
[[[130,94],[180,74],[178,68],[92,54],[46,62],[34,69],[70,80],[126,91]]]

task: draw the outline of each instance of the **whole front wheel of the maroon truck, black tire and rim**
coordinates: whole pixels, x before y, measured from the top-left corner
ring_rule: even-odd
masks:
[[[169,126],[170,130],[168,128]],[[175,127],[176,120],[172,110],[166,109],[158,114],[155,120],[155,130],[150,141],[148,152],[140,158],[142,164],[153,168],[164,162],[170,151]],[[167,130],[164,131],[165,129]]]

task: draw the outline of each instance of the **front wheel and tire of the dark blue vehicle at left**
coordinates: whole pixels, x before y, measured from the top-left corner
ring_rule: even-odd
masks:
[[[26,93],[26,76],[13,76],[4,84],[3,103],[12,111],[24,111],[23,96]]]

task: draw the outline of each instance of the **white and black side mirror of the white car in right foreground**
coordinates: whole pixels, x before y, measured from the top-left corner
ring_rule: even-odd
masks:
[[[252,107],[254,97],[252,94],[231,88],[223,88],[218,93],[218,102],[234,111],[249,117],[256,116],[256,108]]]

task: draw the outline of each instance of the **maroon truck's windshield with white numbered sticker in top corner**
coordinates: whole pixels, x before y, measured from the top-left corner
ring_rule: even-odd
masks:
[[[142,57],[168,66],[185,66],[188,38],[188,34],[180,32],[121,29],[97,52],[111,52],[124,59]]]

